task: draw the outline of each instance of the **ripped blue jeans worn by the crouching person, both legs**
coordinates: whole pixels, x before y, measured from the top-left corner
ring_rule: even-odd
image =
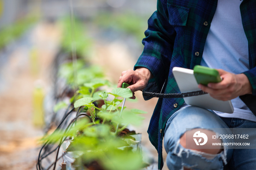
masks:
[[[219,154],[206,154],[184,148],[180,144],[186,128],[203,128],[216,134],[231,134],[229,128],[255,128],[256,122],[219,117],[215,113],[199,107],[184,107],[175,112],[167,121],[164,134],[164,147],[167,152],[166,163],[170,170],[255,169],[255,149],[232,149],[227,146]],[[223,130],[223,131],[222,131]],[[222,139],[231,142],[231,139]]]

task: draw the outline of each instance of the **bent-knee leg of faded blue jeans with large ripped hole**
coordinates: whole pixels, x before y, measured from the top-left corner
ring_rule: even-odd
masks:
[[[214,128],[225,132],[229,130],[226,123],[215,113],[199,107],[184,107],[175,112],[167,121],[164,135],[164,147],[167,152],[166,163],[170,170],[182,170],[187,167],[193,170],[222,170],[229,162],[233,149],[224,146],[219,154],[207,154],[184,148],[180,144],[181,136],[186,128],[204,128],[215,132]],[[231,133],[231,132],[230,132]],[[192,141],[193,142],[193,141]],[[222,139],[222,142],[231,142]]]

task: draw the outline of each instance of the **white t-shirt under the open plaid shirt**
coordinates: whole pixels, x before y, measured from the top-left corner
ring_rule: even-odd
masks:
[[[204,46],[202,66],[240,74],[249,69],[248,40],[242,26],[240,0],[218,0]],[[231,100],[234,113],[216,112],[222,117],[256,121],[256,116],[239,98]]]

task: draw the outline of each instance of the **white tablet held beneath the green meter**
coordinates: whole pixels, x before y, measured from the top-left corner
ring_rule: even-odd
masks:
[[[181,93],[194,92],[201,90],[198,88],[194,71],[181,67],[173,67],[173,76],[178,84]],[[185,103],[214,111],[233,113],[234,108],[231,101],[222,101],[212,98],[210,94],[199,96],[184,97]]]

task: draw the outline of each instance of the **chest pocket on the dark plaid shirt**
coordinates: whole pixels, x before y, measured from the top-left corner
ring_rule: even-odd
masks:
[[[169,23],[173,26],[186,26],[189,8],[167,4]]]

